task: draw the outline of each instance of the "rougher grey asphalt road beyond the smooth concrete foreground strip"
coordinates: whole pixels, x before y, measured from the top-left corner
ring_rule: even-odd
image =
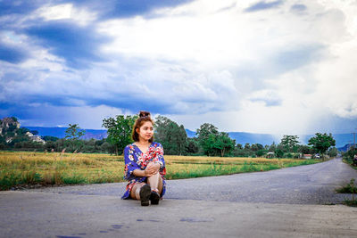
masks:
[[[288,204],[331,204],[351,198],[336,193],[357,171],[341,158],[267,172],[170,180],[165,199]],[[66,186],[30,192],[121,196],[126,183]]]

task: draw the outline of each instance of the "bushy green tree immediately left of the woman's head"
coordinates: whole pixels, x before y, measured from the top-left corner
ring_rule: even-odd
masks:
[[[115,146],[115,154],[123,152],[132,143],[131,133],[137,116],[117,115],[116,118],[103,119],[102,127],[107,128],[107,141]]]

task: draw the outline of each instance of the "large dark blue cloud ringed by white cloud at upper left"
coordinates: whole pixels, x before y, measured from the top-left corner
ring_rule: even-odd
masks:
[[[90,62],[104,61],[98,54],[98,47],[109,41],[109,38],[95,33],[94,29],[79,27],[69,21],[51,21],[26,29],[26,33],[76,69],[89,67]]]

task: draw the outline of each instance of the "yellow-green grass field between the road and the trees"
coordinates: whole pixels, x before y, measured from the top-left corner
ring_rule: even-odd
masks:
[[[320,160],[166,155],[167,179],[219,176],[306,165]],[[122,156],[109,154],[0,152],[0,190],[23,185],[123,182]]]

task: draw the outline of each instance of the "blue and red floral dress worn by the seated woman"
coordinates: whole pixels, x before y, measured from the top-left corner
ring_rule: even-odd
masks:
[[[166,168],[165,168],[165,160],[163,160],[163,149],[162,144],[153,142],[149,145],[147,151],[141,152],[136,144],[129,144],[124,149],[124,178],[129,180],[127,188],[125,190],[124,195],[122,195],[121,199],[130,199],[130,192],[133,186],[136,183],[142,183],[147,181],[146,176],[135,176],[133,171],[135,169],[145,170],[147,164],[149,162],[158,162],[160,164],[159,173],[162,176],[162,194],[166,191]]]

